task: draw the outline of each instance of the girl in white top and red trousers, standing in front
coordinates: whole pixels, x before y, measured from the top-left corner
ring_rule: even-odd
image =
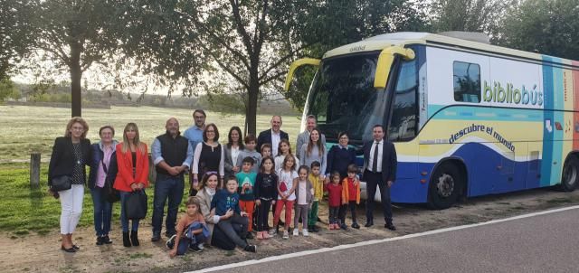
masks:
[[[280,221],[281,210],[286,207],[286,222],[283,229],[283,239],[289,239],[289,223],[291,222],[291,209],[293,202],[296,200],[296,184],[294,179],[298,178],[296,173],[296,165],[294,163],[293,155],[286,155],[283,159],[283,168],[278,171],[280,183],[278,184],[278,203],[275,207],[275,217],[273,217],[273,226],[278,229],[278,222]]]

